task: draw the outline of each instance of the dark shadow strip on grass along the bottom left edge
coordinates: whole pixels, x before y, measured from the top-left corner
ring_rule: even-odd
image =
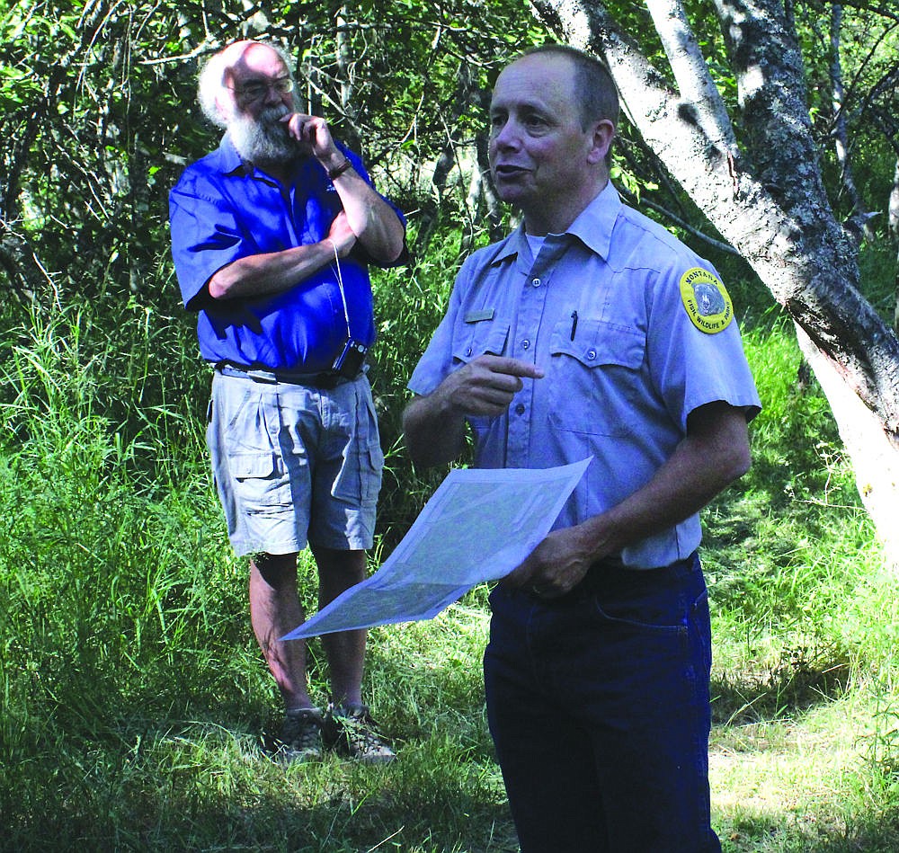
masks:
[[[389,771],[386,771],[388,773]],[[303,788],[302,774],[288,782]],[[286,785],[287,783],[285,783]],[[10,815],[0,849],[9,851],[105,850],[280,850],[360,853],[403,849],[449,853],[518,850],[503,804],[471,804],[448,795],[438,804],[416,807],[389,790],[389,777],[371,780],[358,800],[334,793],[303,805],[289,792],[255,797],[189,792],[160,799],[135,792],[114,799],[102,788],[82,792],[42,809]],[[49,805],[49,804],[46,804]],[[7,822],[4,818],[4,823]]]

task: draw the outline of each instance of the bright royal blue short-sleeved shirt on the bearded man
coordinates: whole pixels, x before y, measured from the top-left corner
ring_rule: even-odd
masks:
[[[360,158],[342,150],[368,181]],[[172,253],[184,305],[198,312],[203,358],[309,373],[331,367],[347,339],[336,262],[291,289],[257,298],[215,300],[207,284],[239,258],[320,242],[342,209],[314,158],[298,160],[281,185],[242,161],[227,136],[184,171],[169,195]],[[375,326],[366,260],[357,247],[340,261],[340,272],[350,334],[370,346]]]

